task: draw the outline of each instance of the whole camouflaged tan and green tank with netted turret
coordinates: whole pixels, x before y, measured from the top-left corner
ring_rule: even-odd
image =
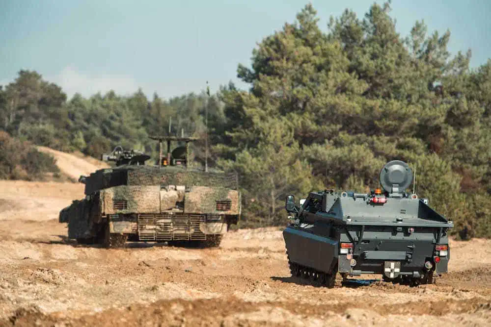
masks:
[[[151,138],[160,144],[158,165],[147,165],[145,153],[116,147],[102,155],[115,167],[81,176],[85,198],[59,213],[70,239],[105,247],[122,247],[126,241],[218,247],[229,226],[237,224],[237,175],[191,168],[189,143],[196,138]],[[185,146],[170,151],[172,142]]]

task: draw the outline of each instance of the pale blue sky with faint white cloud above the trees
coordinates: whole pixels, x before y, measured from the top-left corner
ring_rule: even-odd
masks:
[[[281,29],[307,0],[0,0],[0,85],[36,70],[69,96],[110,88],[169,98],[238,82],[256,42]],[[371,0],[312,0],[326,30],[349,7],[362,17]],[[383,3],[383,1],[376,1]],[[393,0],[390,15],[407,35],[416,20],[472,50],[471,66],[491,57],[490,0]],[[238,83],[239,87],[247,85]]]

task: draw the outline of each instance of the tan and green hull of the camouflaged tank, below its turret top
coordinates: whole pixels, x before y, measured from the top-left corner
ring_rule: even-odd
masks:
[[[95,185],[94,178],[103,173],[94,173],[86,182]],[[161,172],[148,167],[143,168],[143,172],[132,167],[130,173],[124,174],[139,177],[169,174],[164,169]],[[181,174],[185,173],[181,170]],[[107,181],[115,184],[122,181],[114,177],[119,175],[114,175],[113,171],[109,170],[108,174]],[[241,194],[227,187],[229,185],[206,186],[205,177],[201,176],[200,185],[148,185],[152,181],[149,179],[144,185],[95,188],[85,199],[73,201],[61,210],[59,222],[68,224],[69,238],[84,244],[99,243],[109,247],[112,238],[112,244],[118,246],[126,240],[218,246],[229,226],[238,223]],[[187,181],[179,178],[171,181]],[[135,179],[133,181],[135,184]]]

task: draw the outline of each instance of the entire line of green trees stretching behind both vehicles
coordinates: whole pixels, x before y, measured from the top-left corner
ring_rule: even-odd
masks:
[[[11,136],[100,156],[116,145],[156,157],[149,135],[198,136],[204,164],[240,175],[245,225],[284,224],[284,198],[324,188],[367,191],[383,164],[416,168],[416,189],[453,220],[463,239],[491,237],[491,60],[470,69],[471,52],[450,55],[450,32],[415,22],[396,31],[390,3],[364,17],[346,9],[327,32],[307,4],[239,64],[233,83],[206,93],[147,100],[108,92],[67,100],[33,71],[0,89],[0,125]],[[206,110],[205,110],[206,109]]]

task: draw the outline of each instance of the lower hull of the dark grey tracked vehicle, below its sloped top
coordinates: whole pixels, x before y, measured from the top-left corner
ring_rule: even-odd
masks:
[[[421,278],[429,272],[425,267],[426,262],[433,263],[432,271],[436,274],[447,273],[450,248],[446,256],[440,256],[439,261],[434,263],[437,255],[434,235],[438,233],[438,228],[428,227],[411,236],[394,231],[397,226],[365,228],[363,238],[355,242],[354,251],[349,254],[340,253],[340,243],[350,242],[347,237],[343,237],[345,235],[330,238],[306,230],[313,227],[288,226],[283,230],[283,238],[291,262],[325,274],[336,271],[348,276],[372,274],[387,275],[387,278]],[[347,230],[356,232],[359,229],[347,226]],[[441,239],[440,244],[448,245],[448,240]],[[352,259],[355,259],[355,265],[352,265]],[[391,264],[394,264],[393,268],[397,268],[397,271],[386,271]],[[392,276],[391,272],[394,273]]]

